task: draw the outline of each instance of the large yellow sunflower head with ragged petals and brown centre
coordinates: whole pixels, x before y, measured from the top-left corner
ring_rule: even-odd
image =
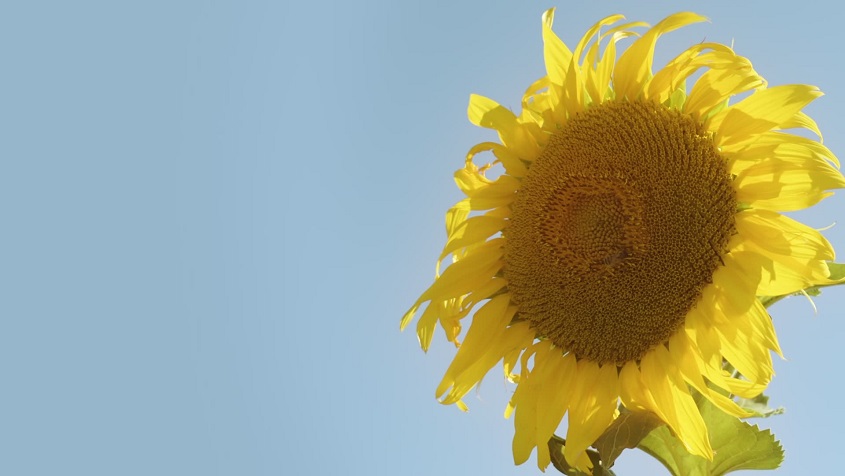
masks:
[[[771,353],[781,355],[757,296],[833,283],[828,241],[781,214],[845,186],[802,112],[821,92],[768,87],[718,43],[654,73],[657,39],[705,20],[694,13],[641,36],[632,29],[646,25],[610,16],[574,50],[552,31],[553,15],[543,15],[547,74],[519,115],[470,98],[470,121],[500,141],[472,147],[455,173],[466,198],[447,212],[436,279],[401,327],[427,303],[422,348],[438,323],[458,346],[436,390],[444,404],[466,410],[463,397],[503,361],[516,383],[505,411],[516,464],[536,448],[545,469],[568,415],[563,456],[589,471],[586,449],[622,407],[655,414],[690,453],[712,459],[693,395],[748,416],[731,395],[760,394]],[[632,36],[617,60],[617,43]],[[476,165],[482,152],[495,160]],[[488,177],[494,165],[503,172]]]

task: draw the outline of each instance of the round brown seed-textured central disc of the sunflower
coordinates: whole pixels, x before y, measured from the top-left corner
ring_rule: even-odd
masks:
[[[692,117],[614,101],[567,121],[505,229],[519,315],[579,358],[641,358],[696,305],[735,233],[732,178]]]

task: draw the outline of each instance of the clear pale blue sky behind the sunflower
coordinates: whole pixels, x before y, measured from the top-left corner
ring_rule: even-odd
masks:
[[[518,108],[540,16],[573,44],[620,12],[703,39],[845,158],[836,3],[6,2],[0,6],[0,474],[529,475],[496,368],[461,413],[454,348],[399,318],[431,282],[470,93]],[[845,257],[840,192],[800,218]],[[845,288],[776,305],[761,421],[780,474],[841,468]],[[663,474],[626,452],[620,476]],[[550,469],[553,472],[553,469]],[[550,473],[551,474],[551,473]],[[753,473],[757,474],[757,473]]]

